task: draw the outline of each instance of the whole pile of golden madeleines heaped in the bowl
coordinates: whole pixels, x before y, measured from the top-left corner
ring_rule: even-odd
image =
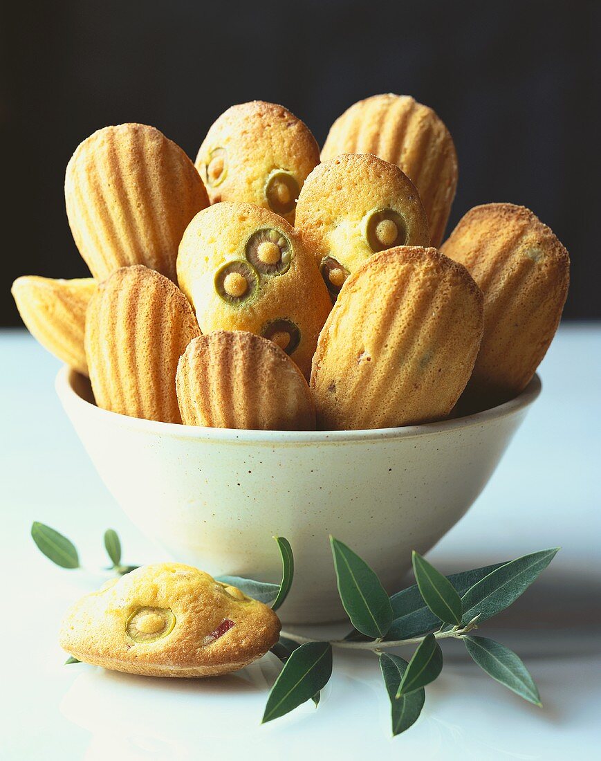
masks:
[[[154,127],[105,127],[65,177],[92,277],[12,292],[122,415],[335,430],[487,409],[545,355],[569,257],[510,203],[471,209],[442,243],[456,183],[447,127],[409,96],[355,103],[321,154],[262,101],[219,116],[196,164]]]

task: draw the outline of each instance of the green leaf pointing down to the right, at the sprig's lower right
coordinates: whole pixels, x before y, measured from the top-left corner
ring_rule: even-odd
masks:
[[[487,637],[469,635],[463,637],[463,642],[474,661],[489,677],[512,689],[520,698],[542,708],[539,690],[522,659],[513,650]]]

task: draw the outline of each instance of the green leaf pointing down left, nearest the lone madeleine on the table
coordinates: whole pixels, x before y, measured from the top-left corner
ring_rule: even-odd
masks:
[[[316,696],[332,676],[332,645],[307,642],[285,662],[269,693],[262,723],[283,716]]]

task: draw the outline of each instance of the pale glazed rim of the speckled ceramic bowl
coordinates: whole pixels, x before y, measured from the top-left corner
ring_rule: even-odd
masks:
[[[495,420],[513,416],[530,406],[542,388],[540,377],[534,374],[526,388],[514,399],[504,402],[483,412],[475,412],[462,418],[441,420],[439,422],[421,423],[420,425],[403,425],[399,428],[370,428],[358,431],[254,431],[239,428],[205,428],[180,423],[165,423],[142,418],[132,418],[119,412],[101,409],[85,400],[75,390],[77,377],[85,378],[77,371],[64,365],[56,375],[56,393],[65,409],[77,409],[83,414],[97,416],[105,422],[113,422],[119,427],[144,431],[170,438],[201,439],[204,441],[256,442],[265,444],[324,444],[350,441],[380,441],[393,438],[415,438],[418,436],[456,431],[472,425],[483,425]]]

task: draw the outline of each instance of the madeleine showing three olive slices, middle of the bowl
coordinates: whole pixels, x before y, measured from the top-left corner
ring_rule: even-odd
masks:
[[[177,277],[202,333],[265,336],[309,377],[332,303],[312,253],[285,219],[248,203],[205,209],[183,234]]]

